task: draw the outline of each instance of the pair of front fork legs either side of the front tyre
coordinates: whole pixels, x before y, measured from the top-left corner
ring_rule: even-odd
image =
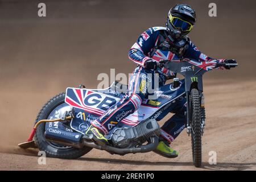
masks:
[[[187,134],[191,134],[191,105],[189,101],[189,92],[186,92],[187,98],[187,111],[185,113],[187,122]],[[201,92],[200,94],[200,105],[201,105],[201,134],[203,135],[205,129],[205,107],[204,107],[204,94]]]

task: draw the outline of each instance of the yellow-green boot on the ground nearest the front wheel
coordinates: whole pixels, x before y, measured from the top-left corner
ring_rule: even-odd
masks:
[[[167,142],[163,141],[159,141],[154,152],[166,158],[176,158],[179,155],[179,153],[176,150],[173,150]]]

